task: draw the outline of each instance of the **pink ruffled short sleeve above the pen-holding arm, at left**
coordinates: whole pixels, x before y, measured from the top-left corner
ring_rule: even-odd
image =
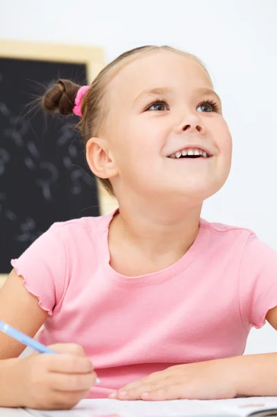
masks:
[[[24,279],[27,291],[37,297],[52,316],[65,286],[65,247],[56,234],[56,223],[35,240],[18,259],[10,262]]]

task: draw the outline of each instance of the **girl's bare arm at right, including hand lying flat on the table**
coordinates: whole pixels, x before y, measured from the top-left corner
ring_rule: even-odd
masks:
[[[277,307],[267,321],[277,329]],[[277,396],[277,353],[252,354],[171,366],[122,387],[119,400],[219,400]]]

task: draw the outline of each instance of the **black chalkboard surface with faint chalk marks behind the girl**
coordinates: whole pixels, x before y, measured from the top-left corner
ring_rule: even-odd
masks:
[[[87,83],[85,64],[0,58],[0,274],[53,222],[99,215],[78,117],[28,106],[59,78]]]

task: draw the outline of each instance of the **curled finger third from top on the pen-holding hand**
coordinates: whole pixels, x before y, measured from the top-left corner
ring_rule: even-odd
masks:
[[[96,382],[94,372],[87,374],[50,373],[49,384],[54,391],[86,391],[90,390]]]

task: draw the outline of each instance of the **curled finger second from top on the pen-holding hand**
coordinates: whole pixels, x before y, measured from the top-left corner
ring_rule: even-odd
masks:
[[[44,354],[43,359],[47,361],[47,370],[50,372],[82,374],[91,373],[93,370],[90,359],[74,354]]]

